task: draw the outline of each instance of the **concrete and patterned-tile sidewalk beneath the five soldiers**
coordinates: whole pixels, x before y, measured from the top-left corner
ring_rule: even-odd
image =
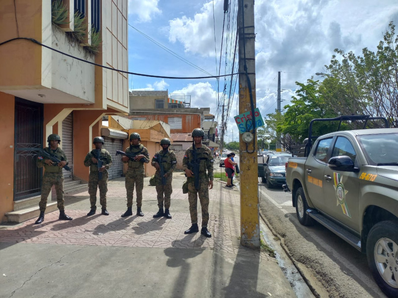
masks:
[[[108,183],[107,210],[90,211],[89,194],[65,197],[58,211],[0,226],[0,298],[27,297],[296,297],[276,261],[239,245],[239,189],[214,181],[209,191],[212,237],[185,235],[191,226],[181,172],[173,177],[171,220],[154,219],[155,187],[145,178],[144,217],[121,218],[126,210],[124,177]],[[198,200],[199,229],[201,223]]]

